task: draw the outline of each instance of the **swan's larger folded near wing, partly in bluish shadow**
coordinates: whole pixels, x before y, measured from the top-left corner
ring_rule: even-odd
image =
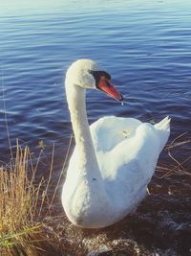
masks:
[[[156,128],[144,123],[112,151],[97,152],[108,195],[118,209],[128,208],[127,204],[134,207],[144,198],[157,165],[159,149]]]

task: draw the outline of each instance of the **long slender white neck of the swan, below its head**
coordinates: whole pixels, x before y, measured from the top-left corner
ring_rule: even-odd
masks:
[[[96,152],[88,124],[85,89],[74,84],[67,85],[67,101],[71,113],[76,150],[79,155],[80,170],[100,178]]]

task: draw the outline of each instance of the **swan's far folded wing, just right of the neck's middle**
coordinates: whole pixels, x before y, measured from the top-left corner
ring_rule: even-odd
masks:
[[[134,118],[107,116],[91,125],[91,134],[96,151],[111,151],[118,143],[134,136],[141,124]]]

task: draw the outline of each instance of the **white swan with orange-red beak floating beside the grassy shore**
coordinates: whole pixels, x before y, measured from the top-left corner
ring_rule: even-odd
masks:
[[[62,190],[65,213],[74,224],[99,228],[121,220],[146,196],[170,120],[152,126],[137,119],[103,117],[89,127],[85,92],[100,89],[121,101],[108,73],[79,59],[66,74],[66,95],[75,148]]]

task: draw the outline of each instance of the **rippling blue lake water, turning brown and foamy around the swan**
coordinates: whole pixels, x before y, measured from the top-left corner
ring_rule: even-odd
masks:
[[[129,103],[121,105],[98,91],[88,92],[90,123],[105,115],[155,123],[169,115],[169,141],[185,132],[178,143],[190,139],[189,1],[14,3],[0,4],[0,163],[10,160],[8,128],[12,146],[19,138],[34,155],[44,151],[39,175],[48,172],[54,143],[54,172],[59,175],[72,133],[63,77],[77,58],[98,61]],[[182,163],[190,149],[190,144],[181,144],[172,153]],[[177,165],[167,151],[159,163]],[[191,173],[190,160],[182,167]],[[112,227],[79,230],[64,219],[65,235],[71,240],[78,236],[78,241],[67,243],[80,243],[81,255],[191,255],[191,175],[159,178],[162,175],[157,171],[151,195],[138,211]],[[63,214],[59,198],[55,207]],[[54,228],[61,229],[61,224]],[[65,235],[59,234],[63,244]]]

